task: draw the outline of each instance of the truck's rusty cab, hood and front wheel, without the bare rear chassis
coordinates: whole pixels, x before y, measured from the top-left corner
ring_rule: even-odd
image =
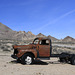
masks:
[[[38,37],[29,45],[14,45],[12,58],[21,60],[23,64],[32,64],[37,58],[50,58],[51,39]]]

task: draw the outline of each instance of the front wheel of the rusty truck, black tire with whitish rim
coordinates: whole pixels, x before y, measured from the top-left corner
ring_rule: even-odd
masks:
[[[31,54],[24,54],[21,59],[22,64],[30,65],[33,63],[33,56]]]

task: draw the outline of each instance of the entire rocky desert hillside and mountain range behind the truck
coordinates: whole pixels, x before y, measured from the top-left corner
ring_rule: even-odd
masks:
[[[75,42],[75,39],[67,36],[62,40],[58,40],[52,36],[45,36],[42,33],[38,35],[34,35],[32,32],[28,31],[13,31],[6,25],[0,23],[0,51],[11,51],[13,50],[12,45],[14,44],[21,44],[25,45],[30,42],[36,37],[48,37],[52,40],[52,53],[60,54],[62,52],[74,53],[75,52],[75,43],[73,47],[65,46],[62,44],[63,42]],[[62,43],[60,43],[62,42]],[[71,52],[72,51],[72,52]]]

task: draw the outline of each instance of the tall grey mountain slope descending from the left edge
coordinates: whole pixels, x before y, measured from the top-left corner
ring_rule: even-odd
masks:
[[[13,39],[14,31],[0,23],[0,39]]]

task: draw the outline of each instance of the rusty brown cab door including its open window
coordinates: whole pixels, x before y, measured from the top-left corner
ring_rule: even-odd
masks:
[[[49,40],[40,40],[39,42],[39,57],[50,56],[50,43]]]

